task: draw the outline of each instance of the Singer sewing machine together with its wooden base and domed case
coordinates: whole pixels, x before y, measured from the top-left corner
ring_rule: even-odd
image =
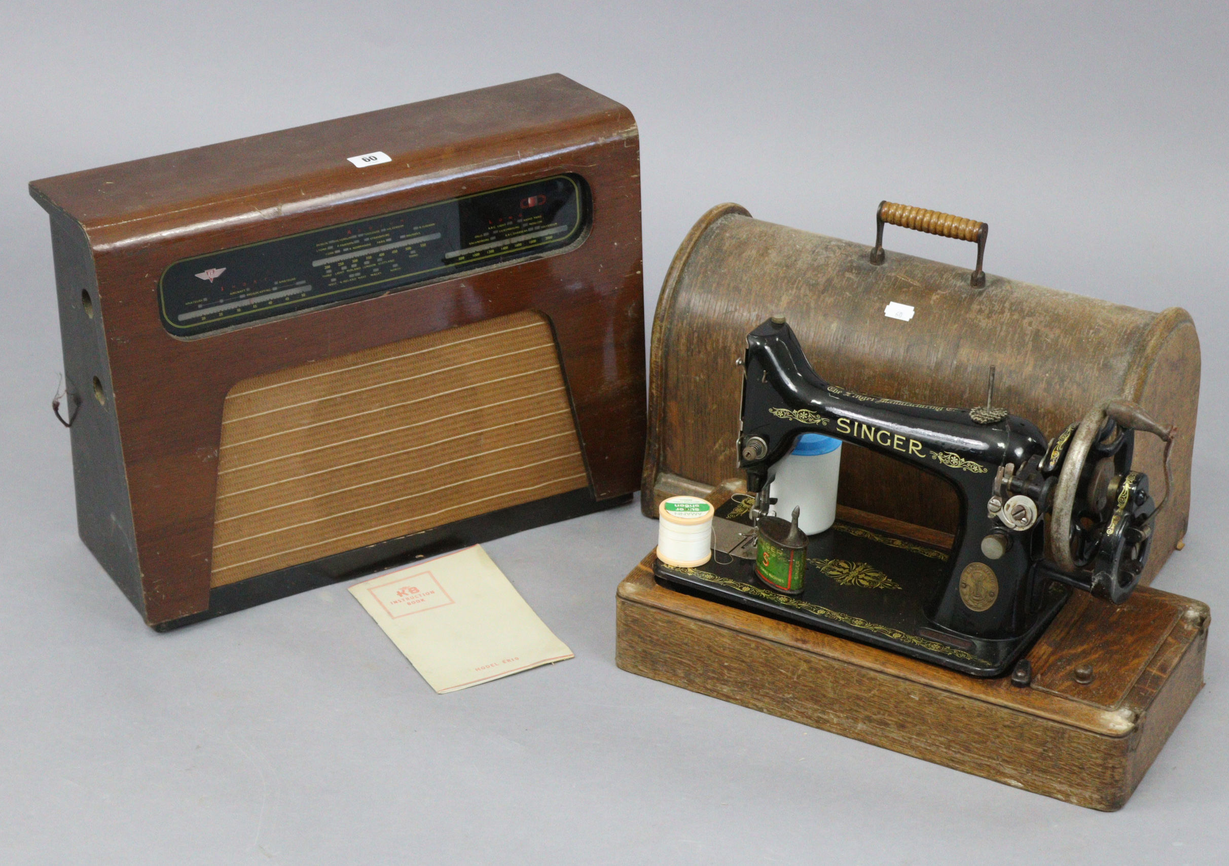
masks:
[[[976,242],[976,270],[885,252],[884,225]],[[1181,310],[984,274],[986,235],[886,201],[874,248],[736,204],[697,221],[654,316],[640,505],[707,499],[712,555],[646,552],[616,661],[1116,809],[1203,685],[1208,606],[1149,586],[1187,531],[1198,338]],[[771,310],[793,328],[748,337]],[[810,536],[791,511],[825,525],[833,458],[791,453],[804,432],[843,441]]]

